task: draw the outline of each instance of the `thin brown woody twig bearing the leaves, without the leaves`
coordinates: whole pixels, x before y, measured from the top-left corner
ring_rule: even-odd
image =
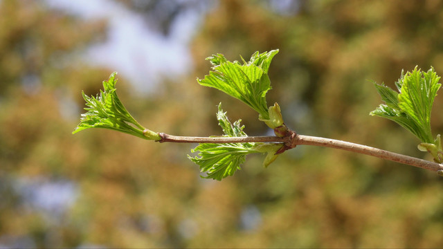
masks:
[[[315,136],[304,136],[292,133],[292,136],[248,136],[248,137],[188,137],[188,136],[172,136],[165,133],[159,133],[161,140],[157,142],[188,142],[188,143],[232,143],[232,142],[282,142],[287,148],[291,149],[297,145],[314,145],[321,147],[330,147],[334,149],[343,149],[368,156],[392,160],[406,165],[428,169],[443,175],[443,165],[433,163],[428,160],[406,156],[403,154],[377,149],[366,145],[359,145],[353,142],[345,142],[330,138],[320,138]]]

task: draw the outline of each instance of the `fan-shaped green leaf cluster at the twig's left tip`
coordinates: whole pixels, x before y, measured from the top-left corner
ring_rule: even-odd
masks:
[[[154,131],[141,126],[118,98],[116,93],[116,72],[109,76],[109,80],[103,82],[103,89],[100,95],[89,97],[82,92],[86,101],[87,113],[82,114],[80,124],[75,127],[73,133],[77,133],[89,128],[113,129],[123,133],[128,133],[147,140],[160,140],[161,137]]]

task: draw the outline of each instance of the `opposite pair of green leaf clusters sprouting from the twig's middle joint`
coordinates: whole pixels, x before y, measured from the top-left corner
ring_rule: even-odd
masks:
[[[248,62],[242,58],[242,64],[237,61],[229,62],[221,54],[213,55],[206,58],[213,65],[213,71],[210,71],[203,80],[197,79],[197,81],[202,86],[213,87],[241,100],[259,113],[259,120],[274,129],[276,136],[285,136],[288,129],[283,123],[280,106],[275,103],[273,106],[267,107],[266,104],[266,93],[271,89],[271,81],[268,76],[269,66],[277,53],[278,50],[264,53],[257,51],[253,53]],[[228,124],[226,113],[223,113],[221,109],[217,113],[217,119],[225,136],[246,136],[245,133],[231,132],[239,130],[239,121],[231,126],[230,123]],[[281,144],[201,144],[193,150],[200,151],[199,157],[190,157],[190,159],[200,166],[202,172],[208,173],[208,178],[220,180],[240,169],[247,154],[266,152],[267,156],[263,165],[267,167],[278,156],[276,153],[279,149],[282,149]]]

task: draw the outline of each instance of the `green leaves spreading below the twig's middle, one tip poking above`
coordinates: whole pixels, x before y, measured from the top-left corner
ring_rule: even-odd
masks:
[[[244,126],[240,124],[241,120],[231,124],[226,116],[226,112],[221,109],[221,104],[219,104],[217,120],[219,121],[219,126],[224,131],[224,136],[247,136],[243,131]],[[255,143],[253,142],[199,144],[195,149],[191,150],[192,153],[199,151],[198,156],[192,157],[188,155],[188,158],[199,165],[201,172],[206,172],[207,176],[202,176],[203,178],[213,178],[221,181],[222,178],[232,176],[238,169],[241,169],[240,166],[246,160],[246,155],[261,152],[255,150],[254,146]]]

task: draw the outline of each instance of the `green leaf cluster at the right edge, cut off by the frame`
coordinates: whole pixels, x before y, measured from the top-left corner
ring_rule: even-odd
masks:
[[[385,104],[380,104],[370,115],[397,122],[422,141],[419,150],[428,151],[435,162],[443,163],[440,134],[433,138],[431,133],[431,110],[441,86],[439,80],[434,68],[424,72],[415,67],[412,72],[401,72],[395,82],[398,92],[384,84],[375,84]]]

